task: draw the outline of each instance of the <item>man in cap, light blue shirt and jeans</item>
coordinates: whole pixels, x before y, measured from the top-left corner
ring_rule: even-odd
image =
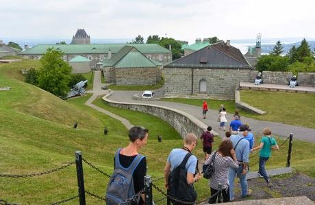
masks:
[[[234,179],[236,175],[240,178],[240,188],[242,197],[251,195],[251,189],[247,186],[247,166],[249,164],[249,141],[244,137],[248,135],[248,126],[241,124],[238,128],[238,135],[231,135],[230,140],[238,159],[238,169],[229,168],[229,197],[230,201],[234,201]]]

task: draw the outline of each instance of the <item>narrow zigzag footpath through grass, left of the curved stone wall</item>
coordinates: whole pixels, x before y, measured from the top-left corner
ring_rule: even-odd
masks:
[[[85,105],[88,107],[92,107],[92,109],[96,109],[97,111],[100,111],[101,113],[104,113],[105,115],[110,115],[110,117],[115,118],[116,120],[121,121],[129,130],[133,125],[126,120],[125,118],[121,118],[121,116],[118,116],[114,113],[111,113],[110,111],[107,111],[105,109],[102,109],[101,107],[97,107],[96,105],[93,105],[92,102],[97,98],[97,96],[108,94],[107,90],[101,90],[101,71],[97,70],[94,72],[94,81],[93,81],[93,94],[92,96],[86,101]]]

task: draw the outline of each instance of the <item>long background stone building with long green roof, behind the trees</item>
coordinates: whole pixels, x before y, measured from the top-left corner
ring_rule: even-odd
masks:
[[[30,59],[40,59],[48,48],[55,48],[64,52],[65,61],[81,55],[90,59],[91,68],[95,69],[97,63],[114,57],[126,45],[134,46],[147,58],[162,64],[172,61],[172,52],[158,44],[39,44],[19,54]]]

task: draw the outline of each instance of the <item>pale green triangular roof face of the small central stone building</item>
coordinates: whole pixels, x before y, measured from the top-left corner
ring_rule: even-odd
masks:
[[[117,64],[114,65],[114,68],[149,68],[156,67],[152,61],[147,59],[142,53],[132,50],[127,53]]]

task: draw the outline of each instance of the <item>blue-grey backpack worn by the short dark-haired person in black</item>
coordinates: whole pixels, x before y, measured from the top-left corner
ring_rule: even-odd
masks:
[[[138,154],[134,161],[132,161],[129,167],[125,168],[119,163],[119,153],[121,149],[116,152],[115,155],[115,170],[108,183],[108,189],[106,191],[106,204],[116,205],[121,204],[125,200],[135,195],[134,191],[134,169],[138,166],[140,161],[144,158],[142,154]],[[133,200],[133,203],[138,204],[140,197]],[[124,203],[124,204],[131,204]]]

